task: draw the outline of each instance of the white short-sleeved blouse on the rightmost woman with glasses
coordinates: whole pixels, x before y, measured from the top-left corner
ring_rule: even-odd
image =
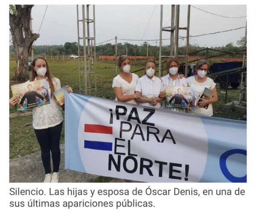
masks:
[[[187,82],[189,84],[189,87],[194,88],[194,98],[196,99],[199,98],[199,95],[201,95],[205,87],[212,90],[216,86],[216,83],[209,77],[207,77],[207,80],[204,83],[200,83],[195,80],[195,76],[191,76],[187,78]],[[212,116],[213,115],[212,104],[209,104],[207,109],[197,105],[193,107],[193,109],[191,110],[191,113],[197,114],[199,116]]]

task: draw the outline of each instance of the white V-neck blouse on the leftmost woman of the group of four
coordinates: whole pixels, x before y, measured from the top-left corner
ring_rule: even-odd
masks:
[[[132,74],[131,83],[128,83],[127,81],[125,81],[120,75],[117,75],[115,78],[113,78],[112,87],[113,88],[121,87],[123,96],[134,95],[139,76],[134,73],[131,73],[131,74]],[[117,98],[116,98],[116,101],[117,101]],[[134,99],[128,101],[127,103],[137,105],[137,102],[135,102]]]

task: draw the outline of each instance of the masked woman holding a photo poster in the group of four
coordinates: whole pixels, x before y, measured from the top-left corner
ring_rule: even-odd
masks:
[[[177,60],[177,58],[169,58],[169,60],[166,63],[167,75],[161,77],[163,87],[188,86],[186,78],[183,77],[183,75],[178,74],[179,67],[180,67],[179,61]],[[161,92],[160,97],[165,97],[165,96],[166,96],[166,92],[165,91]],[[165,107],[165,105],[163,106]],[[168,107],[168,109],[176,112],[185,112],[184,108]]]

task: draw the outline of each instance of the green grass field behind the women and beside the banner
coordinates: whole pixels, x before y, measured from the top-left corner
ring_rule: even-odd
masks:
[[[145,61],[136,61],[132,63],[131,71],[138,70],[144,66]],[[9,63],[9,77],[10,79],[15,74],[16,62],[10,61]],[[61,84],[69,84],[74,92],[79,92],[79,73],[78,73],[78,61],[66,60],[66,61],[49,61],[49,67],[53,76],[61,80]],[[83,67],[82,67],[83,68]],[[112,88],[112,80],[116,74],[114,62],[97,62],[96,64],[96,83],[97,83],[97,96],[107,99],[114,99],[114,92]],[[119,70],[118,70],[119,73]],[[143,71],[137,73],[139,76],[143,76]],[[10,81],[10,85],[13,82]],[[239,119],[242,115],[246,115],[240,111],[237,111],[235,107],[231,109],[224,108],[225,93],[224,90],[218,90],[219,101],[213,105],[214,116],[223,117],[228,119]],[[9,93],[12,96],[11,89]],[[227,102],[239,99],[239,89],[228,90]],[[10,108],[10,158],[21,157],[26,154],[31,154],[35,151],[39,151],[39,145],[35,137],[34,129],[31,125],[32,114],[23,116],[23,113],[16,113],[15,110]],[[64,142],[64,127],[61,133],[61,143]]]

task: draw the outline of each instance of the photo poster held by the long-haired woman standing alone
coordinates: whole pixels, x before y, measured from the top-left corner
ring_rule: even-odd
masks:
[[[20,102],[15,105],[16,111],[26,110],[50,103],[46,79],[28,81],[11,86],[12,96],[18,96]]]

